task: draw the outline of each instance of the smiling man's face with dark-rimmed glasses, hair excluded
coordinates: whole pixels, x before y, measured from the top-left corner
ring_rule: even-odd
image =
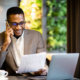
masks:
[[[19,23],[18,25],[16,25]],[[16,36],[20,36],[25,28],[23,14],[12,14],[9,16],[9,24]]]

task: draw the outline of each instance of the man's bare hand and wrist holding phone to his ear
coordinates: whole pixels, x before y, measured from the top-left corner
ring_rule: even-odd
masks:
[[[6,51],[6,49],[8,48],[9,44],[11,43],[11,37],[13,36],[13,30],[10,27],[6,27],[6,31],[5,31],[5,42],[2,46],[2,51]]]

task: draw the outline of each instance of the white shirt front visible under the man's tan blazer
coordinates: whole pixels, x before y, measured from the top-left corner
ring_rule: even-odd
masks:
[[[22,33],[21,37],[19,37],[18,39],[16,39],[13,36],[12,42],[13,42],[13,49],[14,49],[14,53],[12,55],[17,67],[19,67],[21,55],[24,55],[24,32]]]

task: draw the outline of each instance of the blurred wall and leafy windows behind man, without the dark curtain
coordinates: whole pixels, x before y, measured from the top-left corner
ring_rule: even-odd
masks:
[[[67,52],[67,0],[0,0],[0,33],[5,31],[6,11],[19,6],[26,29],[39,31],[48,53]]]

